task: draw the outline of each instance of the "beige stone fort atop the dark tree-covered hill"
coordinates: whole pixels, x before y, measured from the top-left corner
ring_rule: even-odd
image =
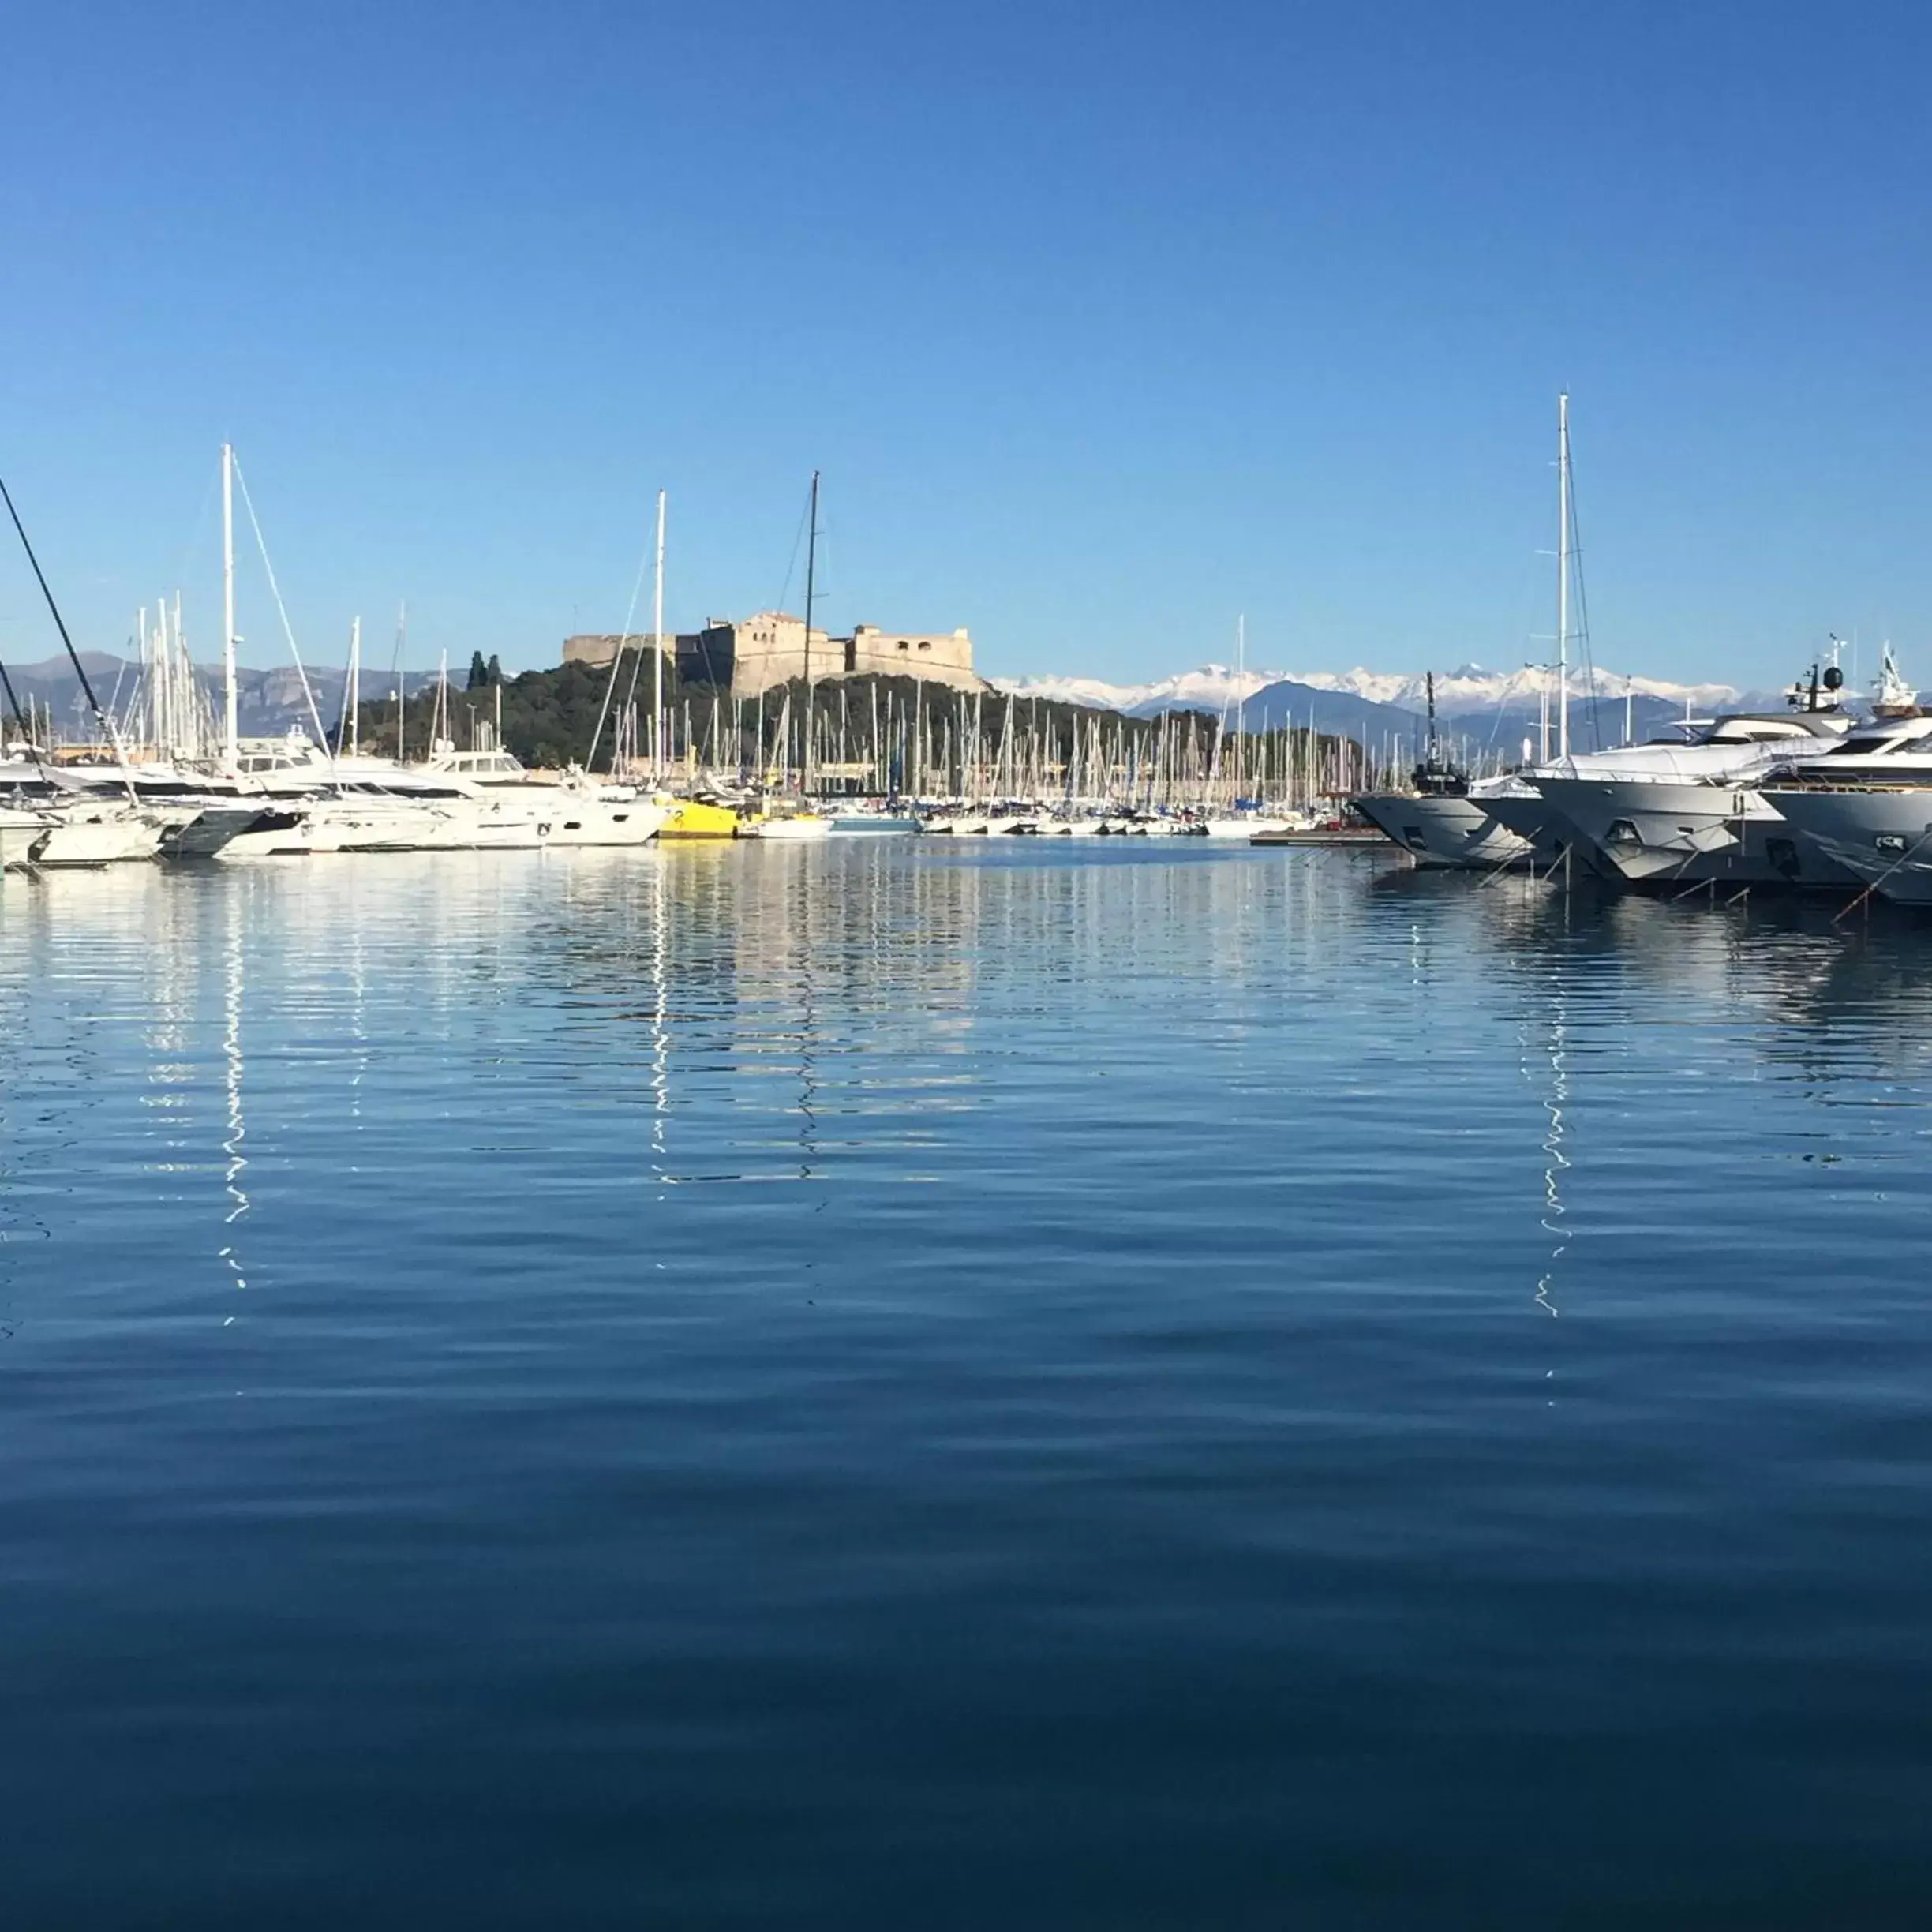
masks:
[[[566,665],[609,665],[624,639],[614,634],[564,639]],[[638,649],[649,645],[649,636],[630,638]],[[684,684],[703,684],[732,697],[755,697],[775,684],[806,676],[804,618],[782,611],[759,611],[742,620],[713,618],[697,632],[667,638],[678,678]],[[972,668],[972,636],[952,632],[879,630],[877,624],[858,624],[848,638],[833,638],[813,626],[811,665],[819,678],[927,678],[956,692],[985,690],[985,678]]]

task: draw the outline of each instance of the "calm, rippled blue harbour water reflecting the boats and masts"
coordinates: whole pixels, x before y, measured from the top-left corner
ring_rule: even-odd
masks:
[[[0,889],[10,1926],[1907,1926],[1932,922]]]

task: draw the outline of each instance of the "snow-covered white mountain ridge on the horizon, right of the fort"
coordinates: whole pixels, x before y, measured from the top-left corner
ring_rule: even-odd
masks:
[[[1279,684],[1298,684],[1314,692],[1337,692],[1378,705],[1397,705],[1420,711],[1426,703],[1422,672],[1403,670],[1248,670],[1236,674],[1227,665],[1200,665],[1173,678],[1151,684],[1107,684],[1101,678],[993,678],[999,690],[1016,697],[1049,697],[1061,703],[1101,705],[1109,711],[1136,715],[1155,711],[1221,711],[1227,705],[1254,697]],[[1435,709],[1441,717],[1464,717],[1472,711],[1536,705],[1542,686],[1555,692],[1555,672],[1544,670],[1484,670],[1482,665],[1461,665],[1435,678]],[[1737,705],[1741,692],[1729,684],[1673,684],[1667,678],[1644,678],[1621,670],[1600,670],[1594,680],[1600,697],[1662,697],[1673,705],[1689,705],[1700,715],[1725,705]],[[1586,696],[1586,680],[1571,668],[1571,696]]]

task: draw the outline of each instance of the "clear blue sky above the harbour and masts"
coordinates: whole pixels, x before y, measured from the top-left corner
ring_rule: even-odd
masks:
[[[773,603],[993,672],[1596,655],[1932,684],[1922,6],[15,8],[0,471],[81,643],[553,663]],[[647,609],[647,599],[645,599]],[[243,655],[276,661],[259,572]],[[54,649],[17,558],[0,653]]]

